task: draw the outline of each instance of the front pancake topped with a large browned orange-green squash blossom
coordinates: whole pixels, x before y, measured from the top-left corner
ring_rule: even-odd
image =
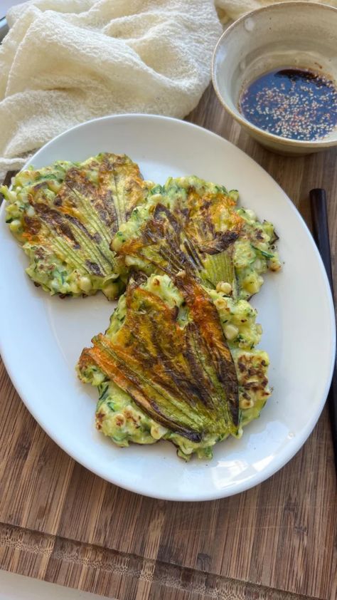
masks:
[[[211,457],[269,395],[268,356],[252,350],[255,317],[247,301],[210,297],[186,271],[131,280],[109,329],[77,365],[100,393],[97,429],[119,446],[162,438],[186,460]]]

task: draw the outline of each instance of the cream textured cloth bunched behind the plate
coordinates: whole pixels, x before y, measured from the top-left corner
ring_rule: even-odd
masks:
[[[0,176],[90,118],[182,118],[210,81],[222,32],[211,0],[33,0],[10,9],[7,21]]]

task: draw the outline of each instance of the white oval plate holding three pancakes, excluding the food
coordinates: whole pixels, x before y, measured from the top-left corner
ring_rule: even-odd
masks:
[[[284,267],[268,274],[253,304],[271,359],[274,393],[241,440],[225,440],[209,462],[176,457],[168,442],[117,448],[94,427],[97,390],[75,376],[75,363],[95,333],[105,331],[114,303],[50,297],[24,272],[21,248],[2,207],[1,350],[11,380],[41,427],[65,452],[127,490],[166,500],[211,500],[247,490],[294,456],[319,418],[331,381],[335,320],[326,273],[311,234],[281,188],[223,138],[183,121],[152,115],[92,120],[36,152],[35,167],[125,152],[146,179],[195,174],[240,190],[242,205],[271,220]]]

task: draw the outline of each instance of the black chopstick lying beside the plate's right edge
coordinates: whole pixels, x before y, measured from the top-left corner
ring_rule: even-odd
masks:
[[[331,293],[333,296],[333,279],[331,270],[331,252],[330,242],[328,234],[328,210],[326,207],[326,192],[317,188],[316,190],[310,191],[310,205],[311,205],[311,217],[314,240],[321,254],[324,267],[326,268],[326,274],[331,287]],[[328,409],[330,413],[331,423],[331,434],[333,441],[333,452],[335,454],[335,468],[337,476],[337,368],[336,358],[333,367],[333,376],[331,380],[331,387],[328,391]]]

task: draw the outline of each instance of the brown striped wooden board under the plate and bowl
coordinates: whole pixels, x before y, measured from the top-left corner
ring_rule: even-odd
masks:
[[[211,88],[188,119],[259,162],[308,222],[309,190],[325,187],[334,257],[336,150],[274,155],[225,115]],[[304,447],[267,482],[224,500],[178,503],[126,492],[75,463],[33,420],[4,366],[0,394],[2,569],[118,600],[336,600],[337,497],[326,410]]]

